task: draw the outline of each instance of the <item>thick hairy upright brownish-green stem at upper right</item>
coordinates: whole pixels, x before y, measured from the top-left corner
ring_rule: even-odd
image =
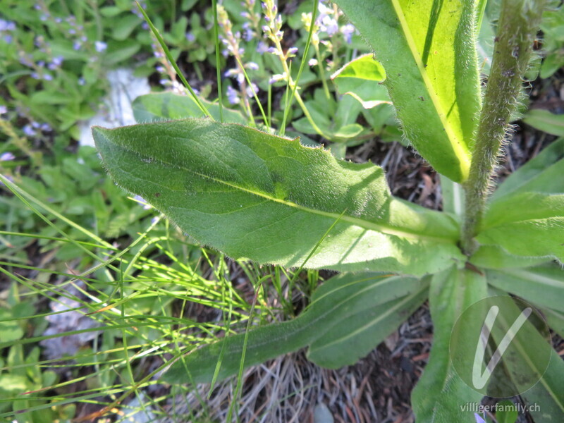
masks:
[[[503,0],[501,4],[494,58],[472,151],[470,175],[464,184],[466,209],[461,247],[466,255],[472,255],[477,248],[474,236],[484,215],[489,183],[509,119],[517,106],[543,6],[544,0]]]

